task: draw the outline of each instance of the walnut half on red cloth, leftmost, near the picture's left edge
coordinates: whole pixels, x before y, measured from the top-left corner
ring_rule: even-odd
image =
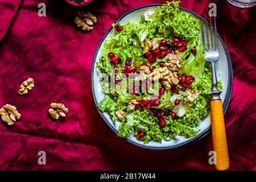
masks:
[[[3,122],[8,126],[15,124],[15,121],[20,119],[21,114],[18,112],[15,106],[6,104],[0,109],[0,114]]]

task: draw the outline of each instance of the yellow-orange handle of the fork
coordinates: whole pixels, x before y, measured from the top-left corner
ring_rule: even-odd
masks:
[[[210,101],[212,115],[213,149],[216,152],[216,169],[224,171],[229,168],[228,144],[221,100]]]

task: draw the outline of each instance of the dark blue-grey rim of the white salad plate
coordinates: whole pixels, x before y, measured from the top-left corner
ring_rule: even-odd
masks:
[[[134,11],[137,11],[139,9],[143,9],[145,7],[152,7],[152,6],[162,6],[164,5],[163,3],[156,3],[156,4],[151,4],[151,5],[144,5],[144,6],[139,6],[133,10],[130,10],[128,11],[126,14],[122,15],[120,18],[118,18],[115,23],[119,22],[120,20],[122,20],[123,18],[125,18],[126,15],[130,14],[130,13],[133,13]],[[193,11],[191,10],[188,10],[188,9],[185,9],[184,7],[179,7],[181,10],[184,10],[184,11],[187,11],[188,13],[191,13],[195,16],[197,16],[199,19],[201,20],[205,20],[202,16],[194,13]],[[102,37],[97,49],[96,49],[96,52],[94,54],[94,57],[93,57],[93,63],[92,63],[92,72],[91,72],[91,86],[92,86],[92,93],[93,93],[93,101],[94,101],[94,104],[96,105],[96,109],[98,110],[98,113],[100,113],[102,119],[105,121],[105,123],[110,127],[110,129],[112,129],[114,131],[115,134],[118,134],[119,131],[117,129],[115,129],[112,125],[110,125],[109,121],[105,118],[105,116],[101,113],[101,111],[98,109],[97,107],[97,101],[96,101],[96,96],[95,96],[95,92],[94,92],[94,83],[93,83],[93,72],[94,72],[94,64],[96,63],[96,57],[98,55],[98,51],[100,50],[100,47],[102,45],[102,43],[104,42],[106,36],[109,34],[109,32],[112,30],[112,26],[108,29],[108,31],[105,33],[105,35]],[[223,110],[224,110],[224,114],[226,113],[226,111],[228,110],[228,106],[230,104],[230,100],[231,100],[231,96],[232,96],[232,92],[233,92],[233,68],[232,68],[232,62],[231,62],[231,58],[230,58],[230,55],[229,55],[229,51],[228,51],[228,48],[226,47],[224,41],[221,39],[220,35],[217,34],[218,36],[218,39],[220,39],[220,42],[222,44],[222,46],[224,47],[224,50],[225,50],[225,53],[226,53],[226,57],[227,57],[227,60],[228,60],[228,86],[227,86],[227,91],[226,91],[226,96],[224,98],[224,102],[223,102]],[[204,138],[205,136],[207,136],[209,133],[210,133],[210,128],[211,126],[209,126],[207,129],[205,129],[202,133],[200,133],[199,135],[196,135],[195,137],[183,142],[183,143],[180,143],[180,144],[176,144],[174,146],[168,146],[168,147],[151,147],[151,146],[144,146],[143,144],[139,144],[139,143],[135,143],[133,142],[132,140],[130,140],[129,138],[124,138],[127,142],[133,144],[134,146],[138,146],[138,147],[141,147],[141,148],[145,148],[145,149],[148,149],[148,150],[171,150],[171,149],[174,149],[174,148],[178,148],[178,147],[181,147],[181,146],[184,146],[185,144],[188,144],[188,143],[195,143],[197,140],[200,140],[202,138]]]

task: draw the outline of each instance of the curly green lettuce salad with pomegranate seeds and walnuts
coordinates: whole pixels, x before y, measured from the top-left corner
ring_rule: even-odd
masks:
[[[108,81],[101,78],[105,97],[97,107],[121,122],[120,137],[134,135],[144,143],[193,137],[209,115],[212,79],[200,20],[179,3],[113,24],[115,35],[105,40],[97,68]]]

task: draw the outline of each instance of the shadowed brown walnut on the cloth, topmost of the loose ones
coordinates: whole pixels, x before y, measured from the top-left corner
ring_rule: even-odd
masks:
[[[97,22],[97,18],[93,16],[91,13],[85,13],[84,11],[80,11],[76,16],[75,22],[77,27],[81,27],[82,30],[90,31],[93,30],[93,24]]]

